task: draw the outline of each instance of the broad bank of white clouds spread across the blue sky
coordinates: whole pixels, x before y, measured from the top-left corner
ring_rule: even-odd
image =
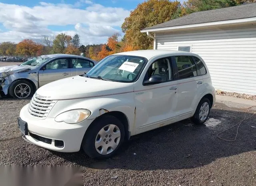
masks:
[[[105,43],[107,38],[120,27],[130,11],[123,8],[105,7],[88,0],[78,2],[88,6],[83,10],[80,4],[52,4],[40,2],[34,7],[0,3],[0,23],[9,31],[0,32],[0,42],[20,42],[23,39],[40,41],[43,36],[53,36],[61,32],[48,26],[73,25],[71,30],[62,32],[80,35],[82,44]]]

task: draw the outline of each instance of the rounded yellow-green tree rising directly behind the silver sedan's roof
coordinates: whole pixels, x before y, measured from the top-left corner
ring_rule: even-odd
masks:
[[[66,47],[71,44],[72,37],[66,34],[58,34],[53,41],[53,53],[64,53]]]

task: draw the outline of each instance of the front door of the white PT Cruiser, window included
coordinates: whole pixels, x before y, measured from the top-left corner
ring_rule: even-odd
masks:
[[[146,86],[140,85],[141,82],[134,83],[136,134],[170,124],[175,117],[177,89],[170,58],[154,61],[148,68],[144,81],[152,75],[161,76],[163,82]]]

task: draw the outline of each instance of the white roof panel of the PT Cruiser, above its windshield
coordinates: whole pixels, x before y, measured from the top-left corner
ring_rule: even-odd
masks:
[[[177,51],[177,50],[135,50],[135,51],[126,51],[126,52],[120,52],[115,53],[112,55],[134,55],[134,56],[140,56],[145,57],[146,59],[151,59],[152,57],[160,57],[161,55],[194,55],[197,56],[194,53],[186,52],[186,51]]]

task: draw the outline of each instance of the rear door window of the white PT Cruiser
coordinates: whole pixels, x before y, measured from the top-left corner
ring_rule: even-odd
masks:
[[[175,56],[179,79],[197,76],[196,65],[191,56]]]

